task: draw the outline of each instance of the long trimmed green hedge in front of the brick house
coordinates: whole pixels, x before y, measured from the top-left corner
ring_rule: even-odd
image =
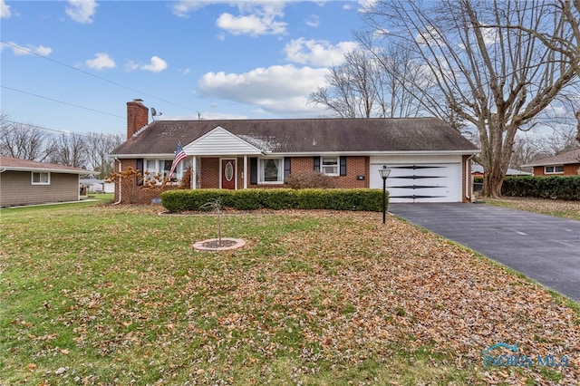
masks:
[[[329,209],[382,211],[382,189],[179,189],[161,193],[161,204],[171,213],[198,211],[210,199],[222,207],[254,209]]]

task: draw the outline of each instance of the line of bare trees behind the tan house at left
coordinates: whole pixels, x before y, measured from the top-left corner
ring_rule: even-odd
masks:
[[[109,154],[124,141],[122,135],[89,132],[56,134],[38,126],[10,121],[0,115],[0,154],[15,159],[89,169],[106,179],[114,169]]]

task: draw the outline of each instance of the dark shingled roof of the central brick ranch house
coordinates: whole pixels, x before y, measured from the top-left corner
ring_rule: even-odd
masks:
[[[154,121],[111,155],[173,154],[221,127],[272,153],[478,151],[437,118]]]

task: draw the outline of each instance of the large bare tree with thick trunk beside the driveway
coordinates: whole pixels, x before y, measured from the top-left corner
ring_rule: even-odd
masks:
[[[453,111],[477,128],[486,171],[483,194],[499,197],[517,131],[531,127],[577,78],[564,53],[501,25],[549,27],[560,39],[569,37],[570,28],[562,15],[547,20],[547,5],[540,0],[431,5],[379,0],[366,10],[365,20],[385,41],[412,50],[430,74],[435,85],[422,88],[426,109],[441,118]]]

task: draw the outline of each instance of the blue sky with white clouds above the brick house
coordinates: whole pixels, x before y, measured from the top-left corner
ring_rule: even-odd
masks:
[[[133,99],[156,120],[324,116],[308,96],[356,47],[363,1],[0,0],[1,111],[121,135]]]

